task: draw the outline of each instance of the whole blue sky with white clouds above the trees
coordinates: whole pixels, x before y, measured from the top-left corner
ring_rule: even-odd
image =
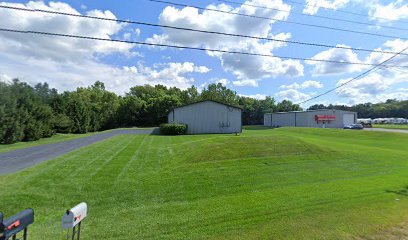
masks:
[[[133,86],[144,84],[163,84],[181,89],[195,85],[203,89],[210,83],[222,83],[242,96],[257,99],[271,96],[278,101],[288,99],[299,103],[347,82],[372,66],[290,58],[379,64],[394,54],[350,48],[399,52],[408,47],[408,31],[404,30],[408,29],[408,3],[404,0],[230,0],[241,4],[220,0],[169,1],[193,7],[149,0],[4,1],[0,5],[342,48],[305,46],[0,8],[0,28],[274,56],[180,50],[0,31],[0,81],[10,82],[18,78],[33,85],[47,82],[59,91],[74,90],[102,81],[108,90],[120,95]],[[367,32],[371,35],[289,22]],[[408,50],[405,55],[398,55],[387,64],[405,67],[377,69],[330,94],[302,104],[302,107],[317,103],[351,105],[387,99],[407,100]]]

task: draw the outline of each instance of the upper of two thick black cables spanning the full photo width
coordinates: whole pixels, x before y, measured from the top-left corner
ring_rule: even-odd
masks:
[[[364,48],[352,48],[352,47],[341,46],[341,45],[336,46],[336,45],[329,45],[329,44],[283,40],[283,39],[278,39],[278,38],[256,37],[256,36],[249,36],[249,35],[243,35],[243,34],[226,33],[226,32],[218,32],[218,31],[208,31],[208,30],[199,30],[199,29],[186,28],[186,27],[176,27],[176,26],[171,26],[171,25],[154,24],[154,23],[147,23],[147,22],[141,22],[141,21],[132,21],[132,20],[121,20],[121,19],[116,19],[116,18],[87,16],[87,15],[81,15],[81,14],[76,14],[76,13],[58,12],[58,11],[50,11],[50,10],[42,10],[42,9],[20,8],[20,7],[12,7],[12,6],[1,6],[1,5],[0,5],[0,8],[9,9],[9,10],[18,10],[18,11],[40,12],[40,13],[48,13],[48,14],[56,14],[56,15],[65,15],[65,16],[70,16],[70,17],[80,17],[80,18],[88,18],[88,19],[103,20],[103,21],[113,21],[113,22],[118,22],[118,23],[128,23],[128,24],[144,25],[144,26],[151,26],[151,27],[162,27],[162,28],[168,28],[168,29],[198,32],[198,33],[206,33],[206,34],[216,34],[216,35],[231,36],[231,37],[242,37],[242,38],[250,38],[250,39],[265,40],[265,41],[275,41],[275,42],[305,45],[305,46],[312,46],[312,47],[349,49],[349,50],[354,50],[354,51],[374,52],[374,53],[382,53],[382,54],[396,54],[396,52],[392,52],[392,51],[371,50],[371,49],[364,49]],[[402,55],[408,55],[408,53],[404,53]]]

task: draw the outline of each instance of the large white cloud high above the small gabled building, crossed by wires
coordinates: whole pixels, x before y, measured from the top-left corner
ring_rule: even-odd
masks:
[[[289,5],[284,4],[281,0],[248,0],[245,3],[268,8],[279,8],[287,11],[291,9]],[[289,15],[289,12],[278,12],[267,8],[254,8],[248,5],[234,8],[226,4],[219,4],[209,5],[208,8],[281,20],[287,19]],[[161,24],[165,25],[207,31],[228,32],[259,37],[269,36],[282,40],[291,37],[290,33],[271,34],[275,20],[242,18],[237,15],[219,14],[208,10],[199,12],[198,9],[192,7],[182,9],[166,7],[161,13],[159,20]],[[150,43],[171,43],[191,47],[205,47],[225,51],[242,51],[268,55],[272,55],[275,49],[285,46],[282,42],[261,41],[217,34],[183,32],[174,29],[163,29],[163,31],[163,34],[154,34],[146,41]],[[277,76],[298,77],[303,75],[303,65],[299,61],[215,52],[207,52],[207,54],[211,57],[218,58],[223,69],[237,77],[237,81],[233,83],[235,86],[258,86],[257,82],[264,78]]]

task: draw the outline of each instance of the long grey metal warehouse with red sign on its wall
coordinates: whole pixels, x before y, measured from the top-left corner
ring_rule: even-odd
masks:
[[[342,110],[309,110],[267,113],[264,125],[272,127],[343,128],[357,122],[357,113]]]

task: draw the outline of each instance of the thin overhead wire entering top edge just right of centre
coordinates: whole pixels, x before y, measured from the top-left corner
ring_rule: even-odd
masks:
[[[353,20],[348,20],[348,19],[344,19],[344,18],[335,18],[335,17],[328,17],[328,16],[322,16],[322,15],[310,15],[310,14],[302,13],[302,12],[294,12],[294,11],[285,10],[285,9],[265,7],[265,6],[259,6],[259,5],[248,4],[248,3],[241,3],[241,2],[230,1],[230,0],[218,0],[218,1],[219,2],[230,3],[230,4],[234,4],[234,5],[240,5],[240,6],[248,6],[248,7],[260,8],[260,9],[269,9],[269,10],[274,10],[274,11],[278,11],[278,12],[287,12],[287,13],[291,13],[291,14],[295,14],[295,15],[306,16],[306,17],[329,19],[329,20],[334,20],[334,21],[339,21],[339,22],[347,22],[347,23],[366,25],[366,26],[372,26],[372,27],[381,27],[381,28],[389,28],[389,29],[395,29],[395,30],[401,30],[401,31],[408,31],[408,28],[385,26],[385,25],[379,25],[379,24],[373,24],[373,23],[367,23],[367,22],[359,22],[359,21],[353,21]]]

